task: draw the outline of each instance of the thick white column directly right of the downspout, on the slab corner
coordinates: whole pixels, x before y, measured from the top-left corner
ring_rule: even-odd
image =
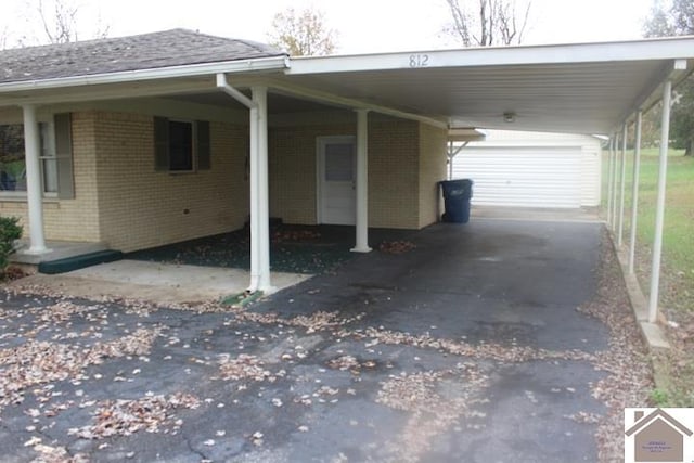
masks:
[[[270,194],[268,179],[268,89],[253,87],[253,101],[258,106],[258,290],[274,292],[270,278]],[[252,213],[253,214],[253,213]]]

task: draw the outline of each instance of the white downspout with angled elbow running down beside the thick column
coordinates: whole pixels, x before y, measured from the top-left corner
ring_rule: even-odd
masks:
[[[258,210],[258,104],[231,87],[224,74],[217,74],[217,88],[250,111],[250,283],[248,292],[255,293],[260,284],[260,228]]]

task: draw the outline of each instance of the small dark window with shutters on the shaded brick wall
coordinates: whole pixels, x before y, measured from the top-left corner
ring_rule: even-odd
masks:
[[[193,172],[210,168],[209,123],[154,118],[155,170]]]

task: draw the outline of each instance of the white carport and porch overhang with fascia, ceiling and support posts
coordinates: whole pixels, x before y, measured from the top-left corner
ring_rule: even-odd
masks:
[[[694,38],[350,56],[278,56],[3,83],[0,103],[23,107],[27,127],[30,250],[37,254],[46,250],[46,244],[39,188],[39,136],[37,130],[28,129],[37,127],[36,105],[136,94],[171,97],[210,92],[244,105],[249,110],[250,126],[250,288],[271,291],[268,94],[290,97],[288,101],[294,104],[312,101],[356,112],[355,252],[370,250],[367,160],[368,121],[373,113],[420,120],[447,130],[509,129],[512,124],[517,130],[612,137],[608,222],[621,244],[626,137],[620,133],[626,133],[627,125],[634,120],[639,125],[640,114],[656,102],[663,100],[663,106],[669,108],[672,86],[691,72],[693,57]],[[664,112],[661,139],[667,140],[668,111]],[[618,151],[621,156],[617,156]],[[657,313],[666,154],[667,144],[663,144],[651,321]],[[634,229],[632,227],[632,233]],[[632,234],[632,255],[633,241]]]

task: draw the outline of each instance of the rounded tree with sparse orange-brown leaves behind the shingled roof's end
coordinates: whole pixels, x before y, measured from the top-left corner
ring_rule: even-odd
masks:
[[[297,13],[293,8],[274,15],[270,44],[292,56],[332,54],[337,48],[337,33],[327,28],[323,12],[310,9]]]

